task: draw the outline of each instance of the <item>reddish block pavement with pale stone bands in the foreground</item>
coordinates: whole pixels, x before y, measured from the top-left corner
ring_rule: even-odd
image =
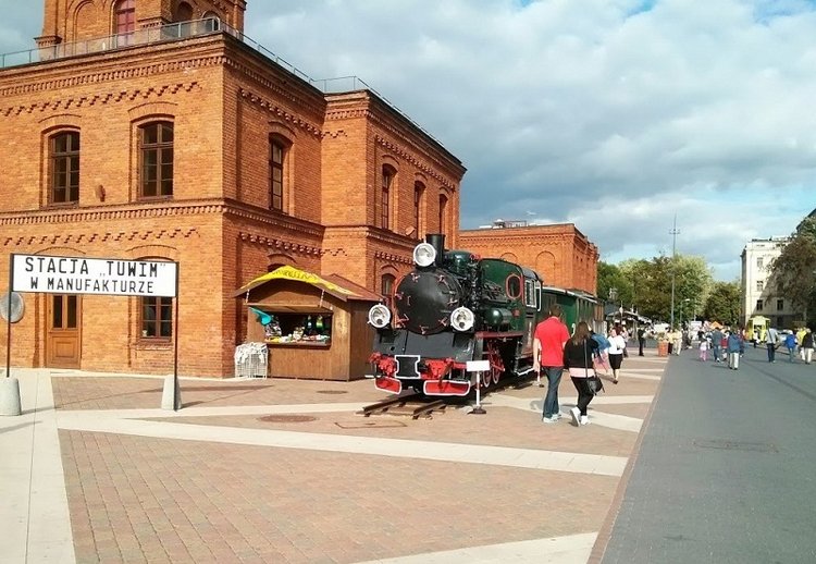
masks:
[[[183,408],[169,412],[163,379],[21,370],[25,413],[0,418],[14,461],[0,462],[12,501],[0,524],[18,535],[0,554],[588,562],[664,372],[647,353],[625,360],[581,428],[568,378],[565,418],[545,425],[535,385],[487,394],[486,415],[450,405],[415,420],[358,415],[383,399],[368,380],[182,379]],[[59,468],[44,477],[46,455]]]

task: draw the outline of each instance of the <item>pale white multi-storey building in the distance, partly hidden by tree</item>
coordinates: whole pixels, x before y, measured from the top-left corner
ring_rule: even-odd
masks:
[[[765,316],[778,329],[791,329],[795,312],[790,299],[775,287],[770,265],[790,241],[789,237],[751,240],[742,250],[742,323],[751,316]]]

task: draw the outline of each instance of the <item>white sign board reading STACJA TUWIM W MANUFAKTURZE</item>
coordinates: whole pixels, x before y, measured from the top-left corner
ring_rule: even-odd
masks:
[[[12,255],[12,291],[175,297],[177,262]]]

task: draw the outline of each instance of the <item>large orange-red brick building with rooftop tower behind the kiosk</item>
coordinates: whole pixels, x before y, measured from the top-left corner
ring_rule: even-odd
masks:
[[[387,293],[420,234],[456,244],[461,162],[371,90],[321,91],[256,48],[244,0],[45,3],[38,49],[0,69],[0,271],[12,253],[174,260],[180,317],[25,294],[13,366],[169,373],[177,336],[180,373],[231,375],[233,293],[257,274]]]

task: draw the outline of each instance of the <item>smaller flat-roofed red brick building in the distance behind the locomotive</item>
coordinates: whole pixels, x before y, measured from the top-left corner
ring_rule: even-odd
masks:
[[[597,247],[572,223],[528,225],[499,220],[492,229],[460,231],[459,245],[531,268],[548,285],[596,292]]]

